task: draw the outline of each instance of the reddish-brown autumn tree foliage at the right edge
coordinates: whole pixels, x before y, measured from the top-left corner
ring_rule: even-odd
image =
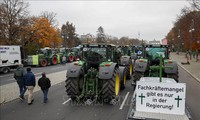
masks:
[[[184,8],[166,38],[176,50],[200,49],[200,11]],[[192,30],[192,31],[191,31]],[[180,49],[181,48],[181,49]],[[183,49],[184,48],[184,49]]]

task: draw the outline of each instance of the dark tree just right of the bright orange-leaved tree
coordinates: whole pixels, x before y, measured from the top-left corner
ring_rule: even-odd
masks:
[[[75,47],[80,44],[76,34],[76,28],[72,23],[66,22],[62,25],[61,35],[63,37],[63,47]]]

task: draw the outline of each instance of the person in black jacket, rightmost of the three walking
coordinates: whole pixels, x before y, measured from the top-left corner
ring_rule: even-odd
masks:
[[[51,87],[51,81],[49,80],[49,78],[46,77],[45,72],[42,73],[42,77],[38,80],[38,85],[40,86],[44,95],[43,102],[47,103],[48,101],[47,95],[48,95],[49,88]]]

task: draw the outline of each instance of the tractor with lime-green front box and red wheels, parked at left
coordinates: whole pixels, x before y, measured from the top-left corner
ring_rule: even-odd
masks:
[[[45,67],[47,65],[56,65],[60,63],[60,55],[57,50],[43,48],[37,51],[36,55],[28,56],[28,65]]]

